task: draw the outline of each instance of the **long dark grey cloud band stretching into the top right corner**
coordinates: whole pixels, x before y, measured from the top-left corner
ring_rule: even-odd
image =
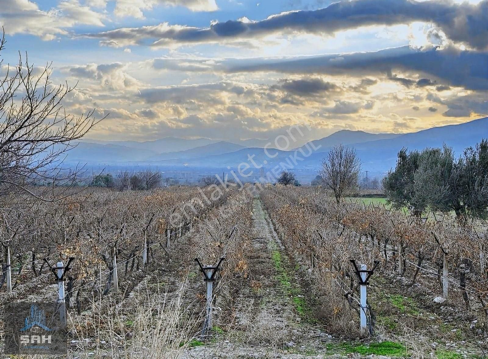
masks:
[[[188,0],[187,5],[190,6],[189,3],[193,1]],[[124,0],[126,2],[133,3]],[[149,2],[153,4],[156,0],[136,1],[135,9],[127,8],[122,14],[141,17],[142,6],[149,6]],[[176,0],[160,2],[172,3]],[[86,36],[116,41],[121,46],[142,45],[146,43],[144,40],[150,40],[152,46],[172,47],[255,39],[276,33],[331,36],[338,31],[362,26],[409,24],[414,21],[434,23],[450,40],[470,48],[484,50],[488,47],[488,0],[476,5],[468,2],[456,4],[446,0],[351,0],[332,3],[319,10],[283,12],[260,21],[241,18],[215,22],[207,28],[162,23]]]

